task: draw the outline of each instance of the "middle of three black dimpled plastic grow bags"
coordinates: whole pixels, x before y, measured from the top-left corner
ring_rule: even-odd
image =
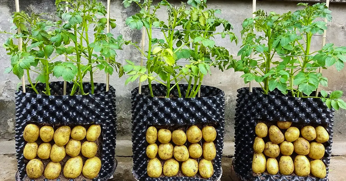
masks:
[[[172,84],[173,86],[173,84]],[[179,84],[181,92],[187,85]],[[148,96],[148,85],[142,86],[142,94],[138,87],[132,93],[132,150],[133,175],[140,181],[215,181],[221,177],[222,148],[225,135],[225,93],[215,87],[201,86],[201,97],[196,98],[159,98],[166,95],[166,87],[153,84],[155,97]],[[177,89],[171,91],[173,97],[179,97]],[[185,95],[182,95],[183,97]],[[216,157],[213,160],[214,174],[209,179],[198,177],[160,177],[149,178],[147,175],[146,130],[150,125],[157,126],[189,126],[196,124],[216,124],[217,137],[214,141]],[[180,164],[181,166],[181,164]]]

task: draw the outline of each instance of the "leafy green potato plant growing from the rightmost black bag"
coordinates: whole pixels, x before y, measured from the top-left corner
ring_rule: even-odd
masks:
[[[243,45],[238,52],[241,60],[233,68],[245,73],[241,76],[245,83],[258,82],[265,94],[278,89],[292,97],[321,98],[328,108],[346,109],[346,103],[340,99],[342,91],[333,91],[328,96],[322,90],[321,96],[311,95],[319,85],[328,86],[328,79],[318,71],[319,67],[327,69],[335,65],[340,71],[346,62],[346,47],[328,43],[318,51],[311,51],[312,37],[321,36],[327,29],[321,19],[331,21],[331,11],[325,3],[298,6],[304,8],[282,15],[258,10],[254,18],[245,19],[241,32]],[[252,52],[258,57],[250,58]]]

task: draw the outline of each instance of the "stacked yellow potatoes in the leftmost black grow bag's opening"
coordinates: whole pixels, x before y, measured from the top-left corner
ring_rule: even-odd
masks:
[[[26,172],[29,178],[37,179],[44,175],[46,179],[57,179],[61,173],[61,164],[66,154],[71,156],[66,161],[63,174],[67,179],[75,179],[81,173],[88,179],[97,177],[101,169],[101,160],[95,156],[98,146],[95,141],[101,134],[100,125],[91,125],[88,131],[83,126],[61,126],[54,132],[51,126],[39,128],[35,124],[28,124],[23,133],[27,142],[24,147],[24,157],[29,160]],[[71,136],[71,138],[70,138]],[[38,137],[42,143],[36,142]],[[86,141],[83,140],[86,137]],[[54,140],[54,143],[53,143]],[[83,144],[81,144],[83,141]],[[53,146],[51,143],[54,144]],[[89,158],[83,166],[82,155]],[[37,158],[38,157],[38,158]],[[45,166],[41,160],[51,159]]]

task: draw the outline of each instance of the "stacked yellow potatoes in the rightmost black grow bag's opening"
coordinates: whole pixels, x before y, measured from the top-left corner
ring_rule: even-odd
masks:
[[[280,171],[283,175],[290,175],[294,171],[300,177],[307,177],[311,173],[317,178],[325,178],[326,166],[320,159],[325,154],[322,143],[329,139],[326,129],[322,126],[304,126],[299,130],[291,125],[292,122],[288,121],[277,121],[277,126],[272,125],[269,129],[265,123],[256,125],[253,172],[263,173],[267,170],[269,174],[276,175]],[[267,135],[270,141],[264,143],[263,138],[267,140]]]

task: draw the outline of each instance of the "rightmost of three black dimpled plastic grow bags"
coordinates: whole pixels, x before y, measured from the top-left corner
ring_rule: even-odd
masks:
[[[280,91],[274,90],[270,95],[262,93],[261,88],[238,89],[235,115],[235,155],[234,171],[242,180],[268,181],[327,181],[328,166],[333,143],[334,109],[328,109],[321,99],[286,97]],[[299,177],[291,175],[269,175],[266,173],[253,174],[253,144],[256,137],[255,126],[257,121],[292,121],[294,123],[324,126],[329,133],[328,142],[322,143],[325,155],[322,161],[327,165],[327,177]],[[309,158],[308,158],[309,159]]]

